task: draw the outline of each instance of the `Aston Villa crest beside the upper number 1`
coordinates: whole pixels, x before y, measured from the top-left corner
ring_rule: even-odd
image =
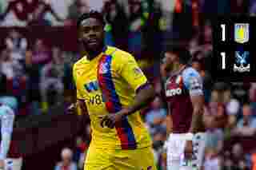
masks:
[[[234,24],[234,42],[240,44],[249,41],[249,24]]]

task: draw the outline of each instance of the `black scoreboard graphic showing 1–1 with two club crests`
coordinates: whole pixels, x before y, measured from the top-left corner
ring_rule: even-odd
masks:
[[[213,38],[214,80],[256,82],[256,18],[219,17]]]

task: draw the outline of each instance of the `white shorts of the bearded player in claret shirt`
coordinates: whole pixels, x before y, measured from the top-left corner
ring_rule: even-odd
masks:
[[[193,149],[194,159],[189,166],[182,166],[184,164],[184,150],[186,145],[186,133],[170,134],[166,142],[167,152],[167,170],[181,170],[181,169],[196,169],[200,170],[204,157],[206,147],[206,133],[199,132],[194,135]]]

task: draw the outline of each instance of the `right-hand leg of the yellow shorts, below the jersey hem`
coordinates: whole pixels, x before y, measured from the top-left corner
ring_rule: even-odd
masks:
[[[126,170],[157,170],[152,148],[121,150],[115,153],[114,167]]]

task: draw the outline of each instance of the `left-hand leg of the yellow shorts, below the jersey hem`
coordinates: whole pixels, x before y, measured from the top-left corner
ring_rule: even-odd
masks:
[[[110,150],[90,146],[86,154],[84,170],[115,170],[110,162]]]

